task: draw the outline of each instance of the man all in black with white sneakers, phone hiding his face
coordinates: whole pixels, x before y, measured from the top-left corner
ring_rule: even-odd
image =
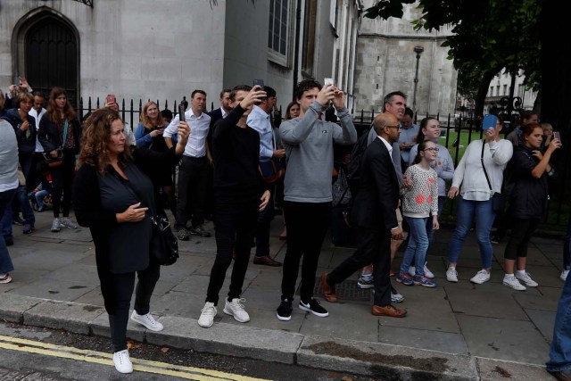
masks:
[[[269,202],[269,190],[258,170],[260,135],[246,120],[254,102],[266,93],[260,87],[234,87],[230,98],[234,110],[220,120],[212,137],[214,148],[214,229],[216,259],[198,325],[211,327],[217,314],[219,291],[236,253],[224,313],[241,323],[250,321],[240,299],[258,214]]]

